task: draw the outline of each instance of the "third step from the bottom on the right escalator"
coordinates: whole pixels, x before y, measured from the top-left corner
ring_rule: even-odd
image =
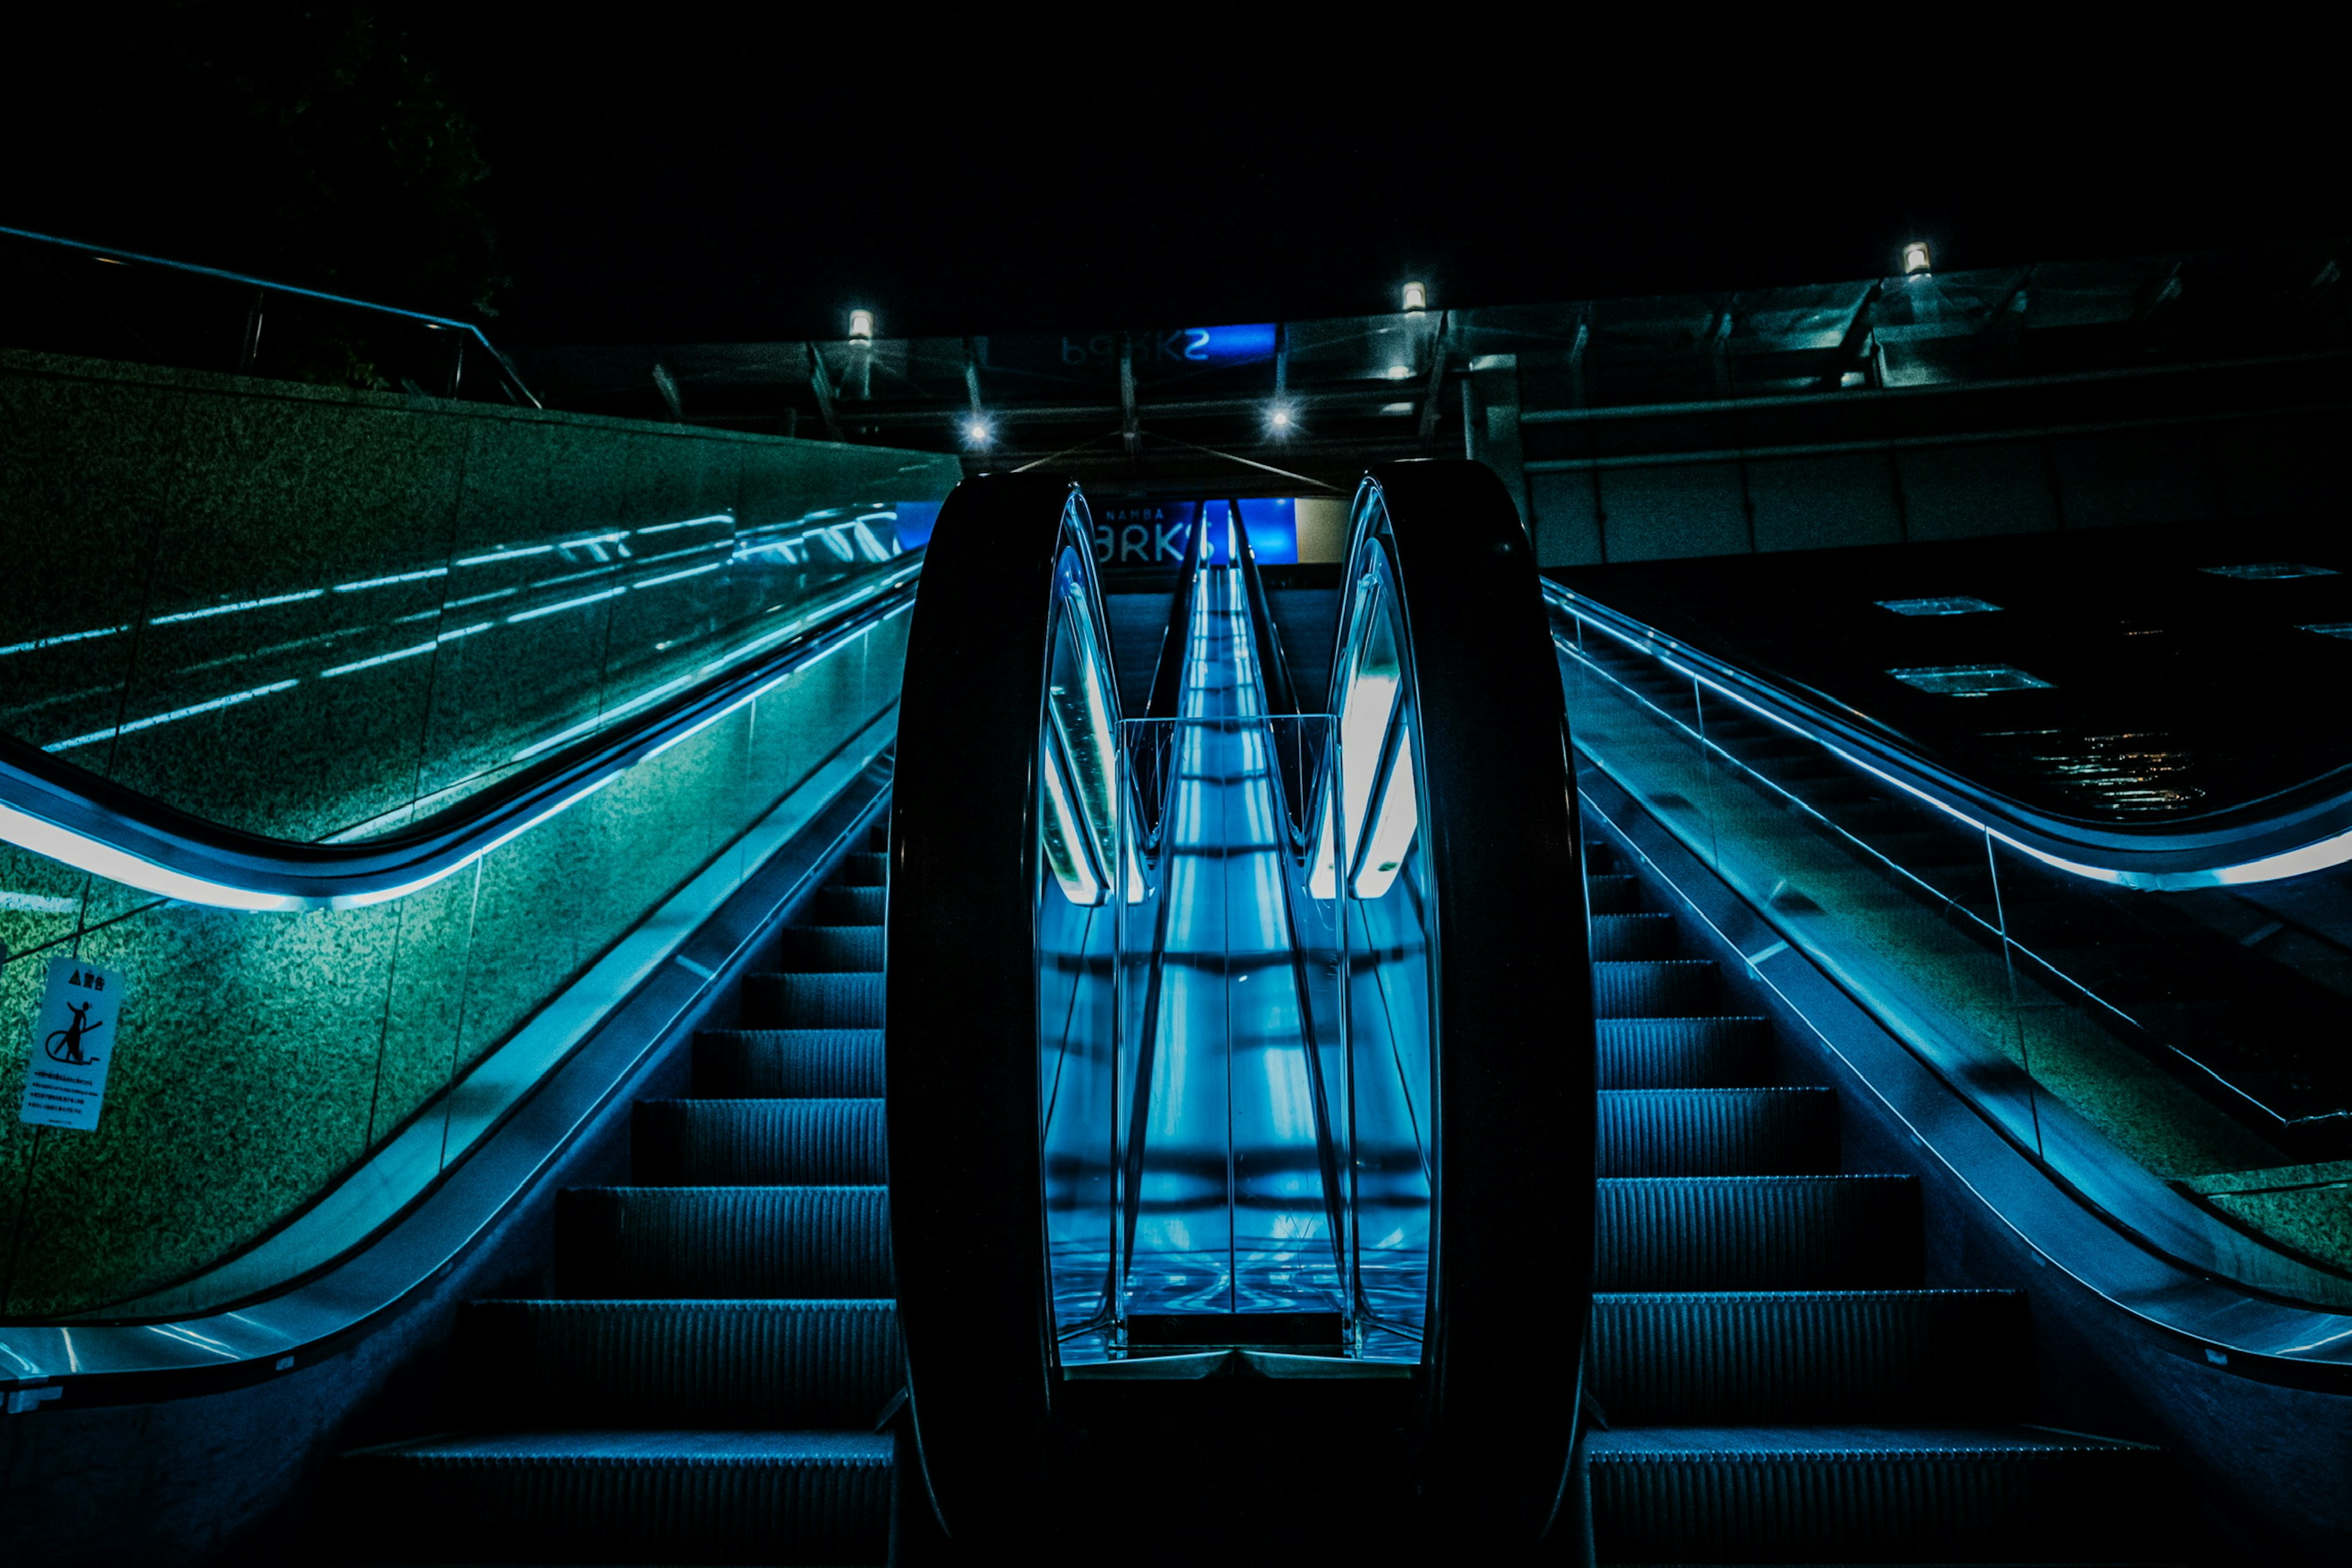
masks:
[[[1910,1175],[1604,1180],[1597,1291],[1867,1291],[1922,1279]]]

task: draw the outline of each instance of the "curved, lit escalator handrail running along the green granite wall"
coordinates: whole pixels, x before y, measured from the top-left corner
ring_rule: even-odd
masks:
[[[400,832],[353,844],[273,839],[205,820],[0,736],[0,839],[113,882],[226,910],[327,910],[407,898],[903,611],[920,574],[922,557],[875,578],[854,602],[771,654],[720,670]]]

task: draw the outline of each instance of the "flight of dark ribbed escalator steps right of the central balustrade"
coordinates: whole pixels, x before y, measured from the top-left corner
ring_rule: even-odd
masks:
[[[1929,1291],[1917,1180],[1839,1173],[1837,1098],[1588,849],[1602,1563],[2161,1561],[2164,1455],[2027,1425],[2016,1291]]]

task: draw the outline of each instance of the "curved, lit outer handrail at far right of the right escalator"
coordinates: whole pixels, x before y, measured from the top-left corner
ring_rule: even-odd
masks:
[[[1543,590],[1555,618],[1656,658],[1724,701],[2053,870],[2138,891],[2185,891],[2272,882],[2352,860],[2352,785],[2343,771],[2216,813],[2199,827],[2067,818],[1962,778],[1917,750],[1839,717],[1830,696],[1745,670],[1562,583],[1545,581]]]

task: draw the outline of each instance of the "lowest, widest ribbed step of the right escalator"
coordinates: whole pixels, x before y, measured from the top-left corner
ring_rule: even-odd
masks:
[[[1588,1439],[1602,1561],[2164,1556],[2164,1455],[2027,1427],[1646,1427]]]

